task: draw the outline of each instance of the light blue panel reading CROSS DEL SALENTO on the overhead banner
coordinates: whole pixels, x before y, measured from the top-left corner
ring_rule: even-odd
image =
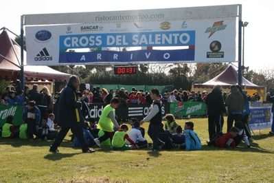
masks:
[[[119,32],[60,36],[60,50],[91,47],[194,46],[195,32]]]

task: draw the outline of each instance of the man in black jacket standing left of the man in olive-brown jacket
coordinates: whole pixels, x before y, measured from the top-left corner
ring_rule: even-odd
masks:
[[[223,114],[226,114],[224,102],[222,100],[222,87],[215,85],[212,92],[207,95],[205,104],[207,105],[208,133],[209,140],[212,140],[216,133],[222,132],[224,125]]]

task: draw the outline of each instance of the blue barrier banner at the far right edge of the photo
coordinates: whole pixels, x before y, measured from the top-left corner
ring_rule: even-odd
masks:
[[[249,127],[251,129],[271,128],[273,122],[271,107],[250,107],[250,111]]]

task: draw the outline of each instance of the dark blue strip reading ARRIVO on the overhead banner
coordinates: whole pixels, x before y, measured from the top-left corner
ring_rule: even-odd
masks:
[[[60,52],[59,63],[130,63],[194,61],[195,49],[184,50],[136,50],[127,52]]]

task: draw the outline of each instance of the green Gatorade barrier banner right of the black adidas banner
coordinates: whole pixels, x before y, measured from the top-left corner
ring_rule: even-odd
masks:
[[[205,114],[205,103],[170,103],[170,114],[174,116],[203,115]]]

